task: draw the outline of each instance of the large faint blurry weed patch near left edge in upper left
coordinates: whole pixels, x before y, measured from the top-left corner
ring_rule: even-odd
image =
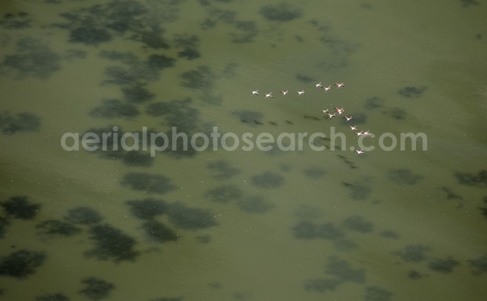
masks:
[[[46,43],[37,38],[21,38],[14,55],[6,55],[0,64],[8,74],[17,74],[17,79],[37,77],[47,79],[61,69],[62,57],[53,52]]]

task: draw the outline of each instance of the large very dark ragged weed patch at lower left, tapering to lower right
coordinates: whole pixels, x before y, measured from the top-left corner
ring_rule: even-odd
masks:
[[[140,253],[134,250],[136,241],[109,224],[95,225],[90,229],[94,248],[86,252],[88,257],[99,260],[134,261]]]

